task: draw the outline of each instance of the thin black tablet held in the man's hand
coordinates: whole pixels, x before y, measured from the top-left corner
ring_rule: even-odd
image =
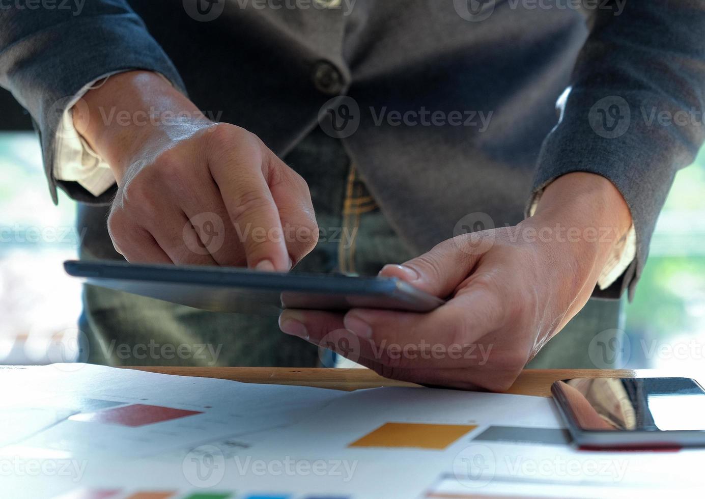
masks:
[[[358,307],[429,312],[443,304],[398,278],[121,261],[66,261],[63,266],[70,276],[91,285],[213,312],[278,315],[284,308]]]

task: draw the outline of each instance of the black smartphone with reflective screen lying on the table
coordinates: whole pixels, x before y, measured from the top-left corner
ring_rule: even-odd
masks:
[[[705,445],[705,390],[691,378],[575,378],[551,393],[581,448]]]

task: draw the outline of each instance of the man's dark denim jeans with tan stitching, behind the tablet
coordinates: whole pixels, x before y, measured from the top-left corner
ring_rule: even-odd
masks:
[[[343,144],[314,130],[286,158],[311,191],[319,223],[317,247],[296,271],[374,275],[384,264],[416,255],[389,225],[350,163]],[[122,259],[106,230],[107,208],[82,206],[86,230],[80,258]],[[279,331],[276,318],[204,312],[125,292],[86,285],[80,331],[87,360],[112,366],[317,366],[316,347]],[[615,328],[619,302],[593,301],[529,364],[594,368],[591,338]]]

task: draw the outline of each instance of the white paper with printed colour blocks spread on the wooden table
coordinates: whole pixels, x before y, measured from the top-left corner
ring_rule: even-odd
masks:
[[[651,497],[674,489],[685,496],[701,488],[705,461],[702,450],[584,452],[565,443],[479,440],[490,426],[527,436],[561,428],[551,399],[522,395],[347,393],[87,365],[0,369],[0,386],[3,418],[23,407],[65,411],[59,421],[27,417],[35,431],[0,448],[0,497],[51,498],[79,488],[115,488],[115,498],[165,490],[173,498],[195,491],[292,499]],[[106,402],[202,414],[136,427],[80,420]],[[441,449],[350,447],[386,423],[476,428]],[[15,418],[10,426],[23,424]]]

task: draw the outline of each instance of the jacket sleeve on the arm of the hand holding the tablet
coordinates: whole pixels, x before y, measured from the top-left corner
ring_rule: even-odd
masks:
[[[591,4],[590,34],[541,148],[532,200],[566,173],[611,180],[632,213],[636,257],[595,296],[617,298],[628,288],[631,298],[675,173],[705,139],[705,1]]]

